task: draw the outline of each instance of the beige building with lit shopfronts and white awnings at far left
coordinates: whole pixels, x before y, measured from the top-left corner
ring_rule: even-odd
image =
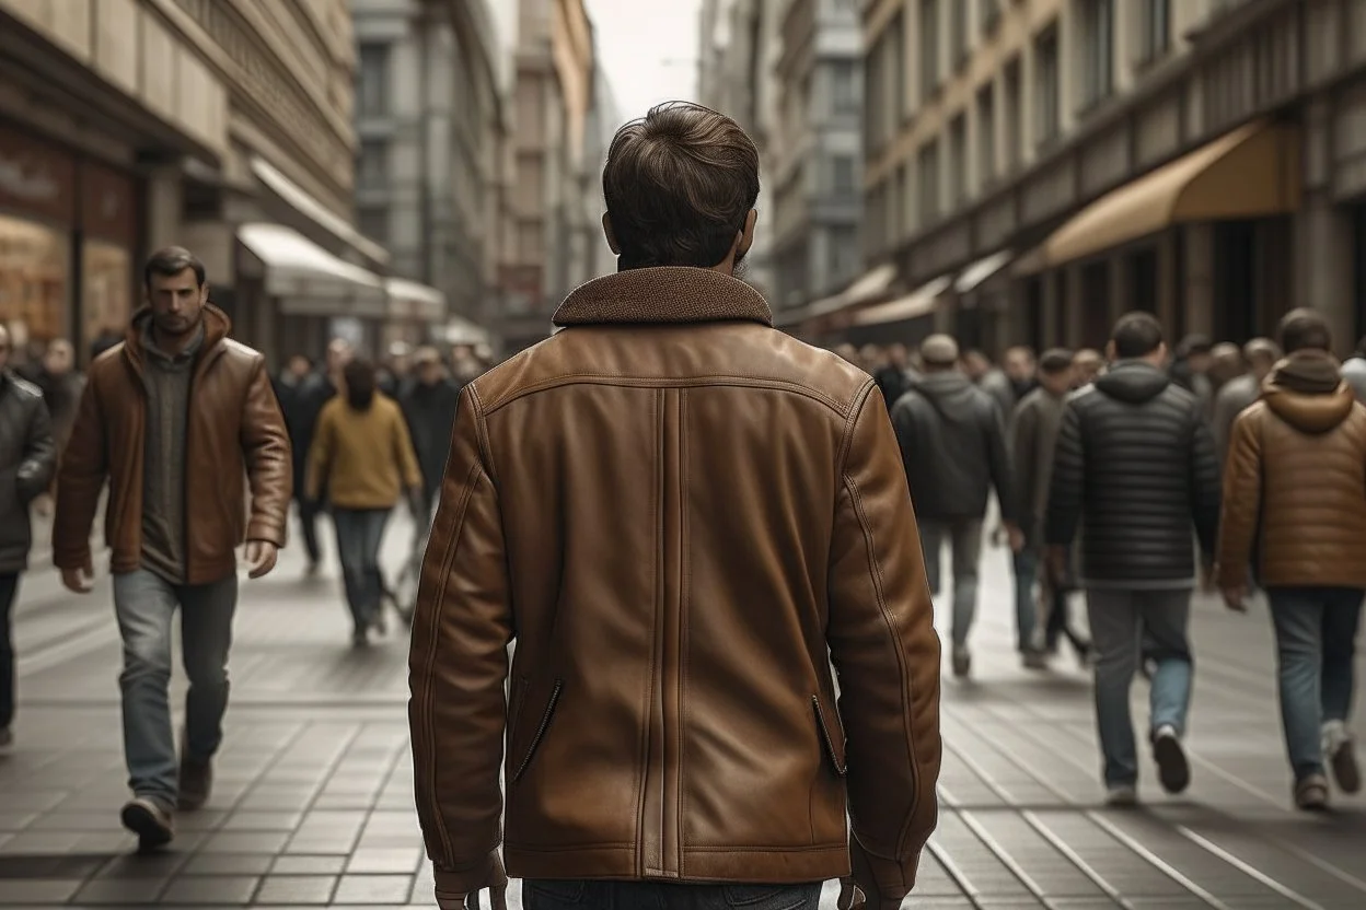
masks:
[[[179,243],[273,360],[373,345],[393,295],[352,218],[354,56],[346,0],[0,0],[0,319],[85,353]]]

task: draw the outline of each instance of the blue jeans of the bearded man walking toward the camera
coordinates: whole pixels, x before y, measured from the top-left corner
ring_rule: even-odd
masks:
[[[228,648],[238,576],[199,585],[171,584],[146,569],[113,576],[113,610],[123,637],[123,752],[128,786],[175,806],[179,764],[171,727],[171,636],[180,607],[180,645],[190,690],[184,700],[186,753],[208,760],[223,742],[228,707]]]

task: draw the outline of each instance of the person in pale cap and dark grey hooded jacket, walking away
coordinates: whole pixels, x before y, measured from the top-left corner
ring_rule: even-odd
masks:
[[[892,408],[902,464],[921,527],[930,591],[940,592],[945,544],[953,566],[953,675],[971,671],[968,634],[977,618],[982,523],[992,490],[1011,550],[1024,538],[1005,446],[1005,423],[992,397],[959,368],[958,342],[934,334],[921,344],[925,378]]]

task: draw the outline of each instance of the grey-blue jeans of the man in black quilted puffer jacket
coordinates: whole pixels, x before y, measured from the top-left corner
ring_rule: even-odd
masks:
[[[1171,726],[1177,735],[1186,731],[1194,669],[1186,637],[1190,611],[1190,588],[1086,591],[1086,614],[1097,656],[1096,726],[1105,760],[1105,786],[1138,782],[1128,690],[1138,670],[1139,651],[1157,663],[1149,690],[1149,729]]]

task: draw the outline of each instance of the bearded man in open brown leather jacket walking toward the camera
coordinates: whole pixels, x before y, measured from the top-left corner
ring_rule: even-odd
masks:
[[[134,794],[123,824],[152,849],[173,836],[173,809],[209,798],[228,703],[235,547],[246,542],[253,578],[275,566],[292,469],[265,360],[227,337],[204,265],[169,247],[148,261],[143,282],[148,306],[123,344],[90,364],[57,480],[52,558],[67,588],[90,591],[90,525],[108,483],[104,536]],[[178,607],[190,677],[179,767],[167,700]]]

